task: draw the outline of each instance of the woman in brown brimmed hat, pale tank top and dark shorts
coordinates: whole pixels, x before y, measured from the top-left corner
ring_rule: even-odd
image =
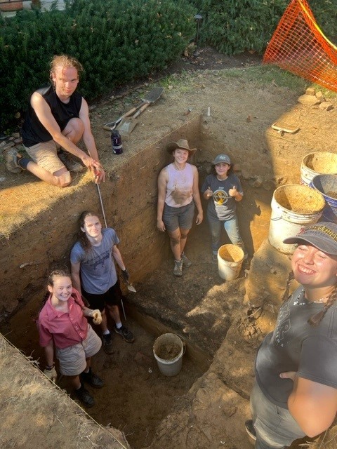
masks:
[[[203,218],[199,194],[199,176],[196,166],[187,163],[196,148],[190,149],[187,140],[170,142],[167,151],[173,162],[164,167],[158,177],[157,228],[167,231],[174,257],[174,276],[182,276],[183,266],[192,262],[184,253],[187,234],[190,232],[197,206],[197,225]]]

